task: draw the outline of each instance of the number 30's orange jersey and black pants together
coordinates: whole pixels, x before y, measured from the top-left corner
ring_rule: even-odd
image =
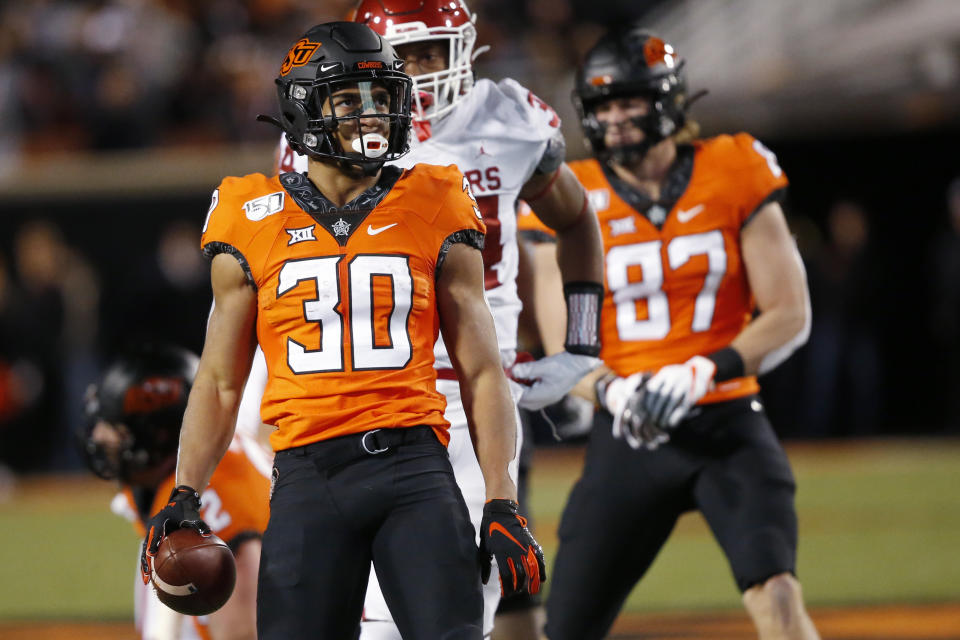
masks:
[[[227,178],[214,193],[203,249],[233,255],[257,291],[261,418],[276,428],[261,638],[352,637],[371,560],[404,637],[479,633],[433,345],[447,250],[480,248],[483,232],[452,166],[385,168],[343,207],[297,173]]]

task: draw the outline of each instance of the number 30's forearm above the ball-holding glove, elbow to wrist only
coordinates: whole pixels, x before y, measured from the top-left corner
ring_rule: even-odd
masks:
[[[238,390],[219,386],[212,378],[198,374],[180,431],[178,485],[203,492],[233,439],[239,406]]]

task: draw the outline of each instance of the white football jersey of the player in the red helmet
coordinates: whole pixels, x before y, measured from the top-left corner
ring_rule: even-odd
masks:
[[[411,151],[394,164],[455,164],[467,177],[487,225],[483,250],[487,302],[500,350],[517,348],[517,214],[520,189],[533,175],[560,118],[547,104],[511,79],[478,80],[456,108],[434,122],[429,138],[411,142]],[[280,171],[305,172],[307,158],[281,140]],[[435,348],[436,366],[449,368],[443,338]],[[510,358],[512,359],[512,358]]]

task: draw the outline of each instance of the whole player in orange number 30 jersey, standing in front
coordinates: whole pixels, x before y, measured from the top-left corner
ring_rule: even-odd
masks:
[[[536,592],[545,577],[508,473],[515,413],[469,183],[451,166],[383,166],[407,150],[402,70],[364,25],[310,29],[280,68],[273,120],[309,156],[308,173],[224,179],[204,225],[215,305],[179,484],[148,523],[142,571],[172,529],[206,530],[194,487],[230,441],[259,343],[261,417],[277,452],[258,590],[264,640],[354,637],[371,561],[412,639],[482,637],[493,557],[506,593]],[[486,485],[479,553],[445,448],[440,331]]]

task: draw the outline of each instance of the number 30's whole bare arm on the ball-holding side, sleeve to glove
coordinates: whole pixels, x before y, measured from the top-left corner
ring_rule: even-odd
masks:
[[[180,432],[177,484],[202,490],[236,425],[243,383],[256,346],[257,294],[233,256],[213,259],[215,306]]]

